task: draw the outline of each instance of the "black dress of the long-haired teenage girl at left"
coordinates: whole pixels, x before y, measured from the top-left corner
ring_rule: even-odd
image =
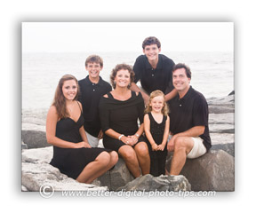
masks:
[[[56,137],[68,142],[78,143],[83,139],[79,129],[84,125],[84,117],[81,115],[77,122],[67,117],[60,119],[56,125]],[[53,157],[50,164],[60,170],[61,173],[76,179],[84,170],[84,167],[93,162],[97,156],[109,151],[104,148],[60,148],[53,146]]]

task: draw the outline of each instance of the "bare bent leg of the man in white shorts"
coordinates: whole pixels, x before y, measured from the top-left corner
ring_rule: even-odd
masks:
[[[194,141],[189,137],[178,137],[174,141],[170,175],[179,175],[185,165],[187,154],[194,146]]]

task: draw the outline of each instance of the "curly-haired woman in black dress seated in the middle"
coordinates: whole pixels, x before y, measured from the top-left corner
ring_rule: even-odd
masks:
[[[117,65],[110,76],[113,91],[100,99],[100,122],[103,145],[122,156],[133,177],[149,173],[150,159],[143,133],[144,101],[140,93],[130,90],[132,67]],[[140,128],[138,126],[140,120]]]

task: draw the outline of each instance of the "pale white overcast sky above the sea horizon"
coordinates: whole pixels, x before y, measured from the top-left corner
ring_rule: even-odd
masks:
[[[156,36],[162,51],[233,51],[232,22],[23,22],[22,52],[141,51]]]

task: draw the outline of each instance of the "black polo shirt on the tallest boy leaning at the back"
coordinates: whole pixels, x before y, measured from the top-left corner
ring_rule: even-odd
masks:
[[[172,85],[172,59],[159,54],[156,69],[152,68],[146,55],[140,55],[133,66],[135,73],[134,82],[140,80],[141,87],[150,94],[152,91],[160,90],[164,94],[173,90]]]

